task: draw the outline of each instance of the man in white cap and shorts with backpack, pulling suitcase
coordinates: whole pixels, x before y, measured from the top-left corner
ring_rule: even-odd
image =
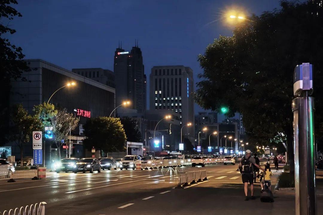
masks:
[[[245,185],[244,190],[245,190],[246,201],[248,201],[248,182],[250,183],[251,199],[255,199],[253,166],[265,171],[265,169],[261,168],[258,164],[256,164],[256,160],[253,157],[251,157],[251,151],[247,149],[245,151],[245,156],[241,159],[239,164],[239,169],[240,169],[240,172],[242,173],[242,182]]]

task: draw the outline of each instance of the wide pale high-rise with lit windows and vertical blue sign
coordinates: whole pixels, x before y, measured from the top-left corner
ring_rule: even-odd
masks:
[[[150,110],[171,110],[180,114],[183,136],[194,137],[193,70],[184,66],[156,66],[150,74]],[[193,142],[193,141],[192,141]]]

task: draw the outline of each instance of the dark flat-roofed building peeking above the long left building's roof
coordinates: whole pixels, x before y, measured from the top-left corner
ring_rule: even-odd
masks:
[[[91,78],[92,80],[95,80],[109,87],[116,88],[116,84],[114,83],[114,73],[109,69],[82,68],[72,69],[72,72],[84,77]]]

